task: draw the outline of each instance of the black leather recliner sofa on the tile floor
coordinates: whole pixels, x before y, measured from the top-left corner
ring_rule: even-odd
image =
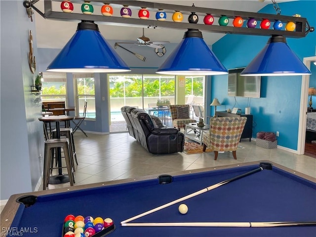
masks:
[[[165,127],[159,118],[130,106],[121,108],[129,135],[152,154],[183,152],[184,134],[176,128]]]

